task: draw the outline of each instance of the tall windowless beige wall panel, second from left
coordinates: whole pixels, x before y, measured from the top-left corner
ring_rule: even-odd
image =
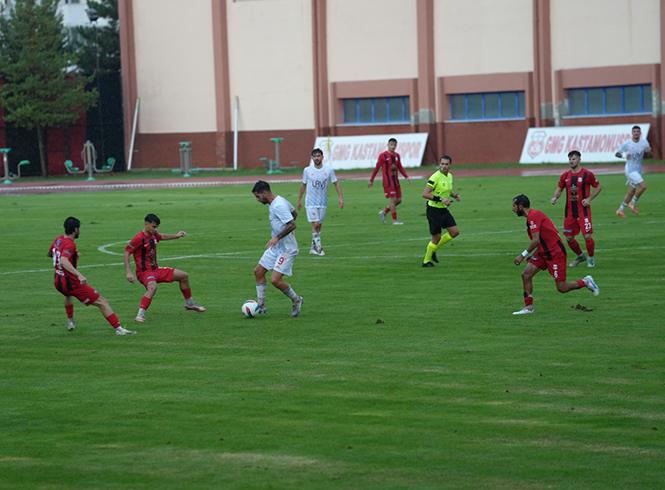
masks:
[[[314,127],[310,0],[227,0],[240,131]]]

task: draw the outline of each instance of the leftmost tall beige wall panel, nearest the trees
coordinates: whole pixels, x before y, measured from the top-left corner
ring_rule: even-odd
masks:
[[[142,133],[215,130],[210,1],[134,2]]]

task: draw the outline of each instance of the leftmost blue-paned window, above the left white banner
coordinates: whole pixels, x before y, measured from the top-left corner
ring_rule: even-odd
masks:
[[[411,122],[408,97],[344,99],[344,124]]]

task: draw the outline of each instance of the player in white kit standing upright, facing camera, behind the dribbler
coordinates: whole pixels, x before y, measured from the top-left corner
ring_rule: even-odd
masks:
[[[312,248],[309,253],[312,255],[325,255],[321,247],[321,225],[326,217],[326,208],[328,206],[328,184],[333,183],[339,196],[339,207],[344,209],[344,198],[342,197],[342,188],[335,177],[335,171],[323,164],[323,152],[319,148],[312,150],[312,162],[302,173],[302,184],[300,184],[300,193],[298,194],[298,211],[302,209],[302,195],[307,189],[305,197],[305,209],[307,211],[307,221],[312,223]]]

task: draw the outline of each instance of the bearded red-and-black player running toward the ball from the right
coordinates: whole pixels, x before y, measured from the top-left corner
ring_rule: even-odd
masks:
[[[566,246],[561,241],[559,232],[545,213],[531,209],[531,202],[524,194],[513,199],[513,213],[526,217],[526,231],[531,243],[515,257],[515,265],[520,265],[524,258],[532,252],[526,267],[522,271],[524,284],[524,308],[513,313],[523,315],[533,313],[533,276],[541,270],[548,270],[554,278],[556,289],[560,293],[567,293],[573,289],[587,287],[594,296],[598,296],[598,286],[591,276],[579,281],[566,282]],[[536,250],[537,249],[537,250]]]

